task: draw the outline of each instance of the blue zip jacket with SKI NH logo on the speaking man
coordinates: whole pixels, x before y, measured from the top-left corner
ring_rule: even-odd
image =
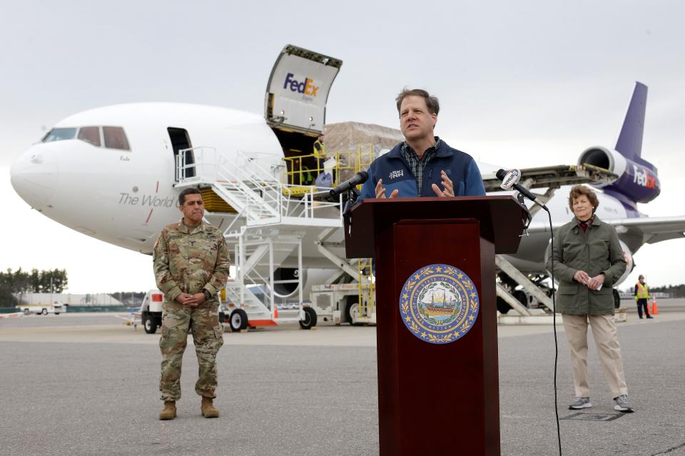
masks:
[[[412,174],[409,165],[400,153],[402,143],[378,157],[369,167],[369,180],[362,186],[359,200],[376,197],[376,184],[379,179],[383,180],[382,186],[385,187],[385,195],[388,197],[392,191],[397,189],[400,192],[397,197],[411,198],[417,197],[416,177]],[[444,140],[440,141],[440,146],[435,151],[435,157],[428,162],[423,172],[423,182],[421,187],[422,197],[435,197],[431,185],[437,184],[442,189],[442,178],[440,171],[445,170],[447,177],[452,180],[455,189],[455,197],[465,196],[485,196],[485,187],[480,175],[480,170],[476,161],[471,155],[460,150],[452,149]]]

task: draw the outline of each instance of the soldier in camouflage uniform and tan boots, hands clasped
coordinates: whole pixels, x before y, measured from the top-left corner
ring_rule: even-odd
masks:
[[[164,293],[162,368],[159,389],[164,401],[160,420],[176,417],[176,400],[181,398],[181,362],[188,330],[198,356],[200,374],[195,385],[202,396],[205,418],[218,418],[216,397],[216,354],[223,345],[223,327],[218,321],[216,295],[228,280],[228,249],[223,234],[202,222],[202,195],[188,188],[178,197],[183,219],[165,227],[153,253],[157,287]]]

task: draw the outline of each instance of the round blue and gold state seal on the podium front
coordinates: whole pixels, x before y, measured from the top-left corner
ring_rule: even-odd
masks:
[[[478,318],[478,292],[463,271],[430,264],[414,272],[402,287],[400,316],[422,341],[450,343],[465,336]]]

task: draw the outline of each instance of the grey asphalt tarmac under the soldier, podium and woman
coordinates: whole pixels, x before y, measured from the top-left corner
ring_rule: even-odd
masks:
[[[618,324],[631,414],[614,412],[592,342],[594,408],[567,410],[557,328],[564,455],[685,455],[684,304],[659,301],[642,321],[629,308]],[[192,342],[178,418],[157,419],[158,338],[111,314],[0,320],[0,455],[378,454],[375,328],[225,333],[217,420],[200,415]],[[502,455],[557,455],[551,326],[500,326],[499,342]]]

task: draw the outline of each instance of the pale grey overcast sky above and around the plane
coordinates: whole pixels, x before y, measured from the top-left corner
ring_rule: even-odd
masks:
[[[640,209],[685,214],[684,2],[444,3],[4,2],[0,192],[10,217],[0,269],[66,268],[73,293],[153,288],[150,257],[30,209],[9,184],[11,161],[62,118],[103,105],[177,101],[261,114],[287,43],[342,59],[328,123],[397,127],[397,92],[426,88],[440,98],[437,135],[503,167],[570,165],[590,145],[614,147],[634,81],[645,83],[643,157],[662,187]],[[634,275],[684,283],[684,257],[685,239],[646,245]]]

